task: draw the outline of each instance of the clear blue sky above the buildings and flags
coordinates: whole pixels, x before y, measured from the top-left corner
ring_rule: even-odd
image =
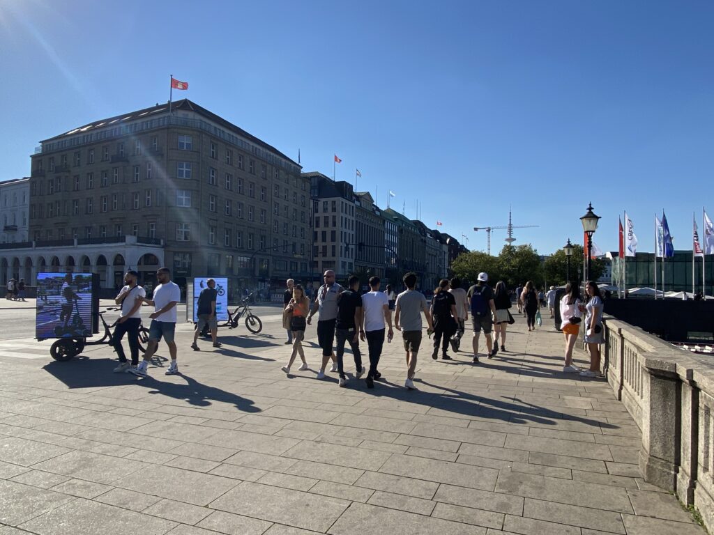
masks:
[[[174,91],[386,205],[486,250],[474,226],[540,225],[517,242],[615,250],[618,214],[652,250],[714,215],[714,3],[206,1],[0,3],[0,180],[38,141]],[[505,231],[493,232],[498,250]]]

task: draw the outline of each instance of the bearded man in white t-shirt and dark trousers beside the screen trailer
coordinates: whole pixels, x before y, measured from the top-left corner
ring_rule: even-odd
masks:
[[[129,372],[130,367],[139,366],[139,326],[141,325],[139,309],[146,297],[146,290],[136,283],[138,279],[139,273],[134,270],[127,271],[124,275],[125,286],[121,288],[119,295],[114,299],[114,302],[121,307],[121,315],[116,321],[114,335],[111,337],[114,342],[114,351],[119,356],[119,366],[114,368],[114,373]],[[129,339],[131,366],[124,355],[124,347],[121,347],[121,339],[124,334]]]

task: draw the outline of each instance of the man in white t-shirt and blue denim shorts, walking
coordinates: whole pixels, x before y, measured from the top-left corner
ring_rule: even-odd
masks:
[[[174,332],[176,331],[176,305],[181,300],[181,288],[171,282],[171,271],[168,267],[161,267],[156,272],[156,281],[159,282],[159,285],[154,288],[154,299],[146,299],[146,297],[143,299],[147,305],[154,305],[154,313],[149,316],[151,317],[149,345],[146,347],[144,360],[141,361],[141,364],[129,370],[140,377],[146,377],[149,374],[146,369],[149,367],[151,357],[159,349],[162,337],[166,345],[169,346],[169,355],[171,355],[171,365],[166,370],[166,375],[178,373]]]

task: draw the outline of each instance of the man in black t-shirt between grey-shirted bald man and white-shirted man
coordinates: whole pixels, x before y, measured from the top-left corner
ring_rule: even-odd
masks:
[[[339,386],[347,384],[347,377],[344,372],[342,357],[345,353],[345,342],[349,342],[352,348],[352,355],[355,359],[355,377],[359,379],[364,373],[362,367],[362,355],[359,351],[359,330],[362,320],[362,297],[359,295],[359,277],[352,275],[347,284],[348,290],[338,295],[337,300],[337,321],[335,323],[335,335],[337,337],[337,371],[340,374]]]

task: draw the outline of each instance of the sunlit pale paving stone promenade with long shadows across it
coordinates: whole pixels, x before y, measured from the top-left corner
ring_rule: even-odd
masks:
[[[410,392],[398,332],[374,389],[351,355],[339,388],[316,379],[314,327],[311,370],[281,372],[279,309],[260,314],[260,334],[201,352],[180,323],[175,376],[165,346],[140,379],[106,345],[54,362],[49,342],[0,341],[0,535],[705,534],[643,481],[605,379],[560,371],[549,323],[516,317],[478,366],[423,347]]]

